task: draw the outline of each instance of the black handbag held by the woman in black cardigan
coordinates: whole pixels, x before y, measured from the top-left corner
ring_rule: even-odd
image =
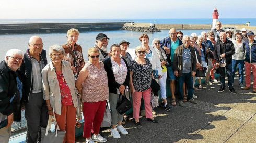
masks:
[[[131,108],[132,108],[132,103],[126,98],[125,92],[123,95],[120,93],[118,102],[117,102],[117,108],[116,108],[118,113],[122,115]]]

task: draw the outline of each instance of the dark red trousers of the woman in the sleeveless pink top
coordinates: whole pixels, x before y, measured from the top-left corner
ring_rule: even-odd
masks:
[[[100,133],[100,125],[106,109],[106,101],[84,102],[84,134],[83,137],[90,138],[91,132]]]

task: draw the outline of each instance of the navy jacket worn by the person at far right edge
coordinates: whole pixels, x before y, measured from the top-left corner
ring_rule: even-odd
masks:
[[[249,63],[256,63],[256,40],[249,45],[249,41],[245,41],[245,61]]]

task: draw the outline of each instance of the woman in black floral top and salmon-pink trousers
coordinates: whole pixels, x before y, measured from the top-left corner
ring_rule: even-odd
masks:
[[[151,78],[152,66],[148,58],[144,58],[146,49],[138,46],[135,49],[136,59],[130,65],[130,88],[133,99],[133,118],[135,125],[141,126],[139,122],[139,107],[141,106],[141,97],[143,96],[146,118],[148,121],[158,123],[152,114],[150,105],[151,99]],[[143,79],[143,80],[142,80]]]

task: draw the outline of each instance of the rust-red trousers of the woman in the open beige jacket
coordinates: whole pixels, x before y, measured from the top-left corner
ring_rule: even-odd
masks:
[[[61,115],[55,114],[60,130],[65,130],[66,135],[63,143],[74,143],[76,141],[76,108],[74,105],[61,105]]]

